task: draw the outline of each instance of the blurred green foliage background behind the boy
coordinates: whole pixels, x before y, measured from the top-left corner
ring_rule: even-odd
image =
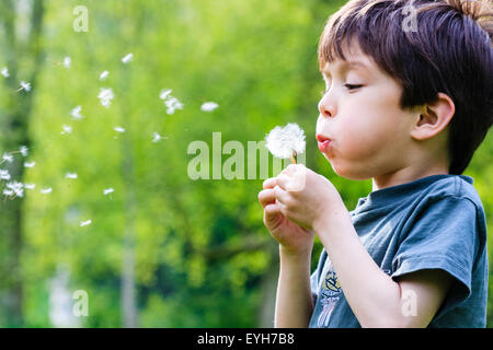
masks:
[[[352,210],[370,182],[335,176],[314,139],[324,89],[317,44],[344,2],[1,0],[0,69],[9,77],[0,75],[0,154],[21,145],[28,154],[11,153],[0,168],[36,187],[1,197],[0,326],[273,326],[278,255],[257,202],[264,178],[193,180],[187,147],[211,149],[220,131],[222,144],[238,140],[246,152],[248,141],[298,122],[307,166]],[[87,32],[78,32],[78,5],[88,10]],[[18,91],[21,81],[32,91]],[[113,89],[108,108],[101,88]],[[167,114],[163,89],[183,109]],[[209,101],[219,107],[200,110]],[[76,106],[82,119],[70,115]],[[153,132],[163,139],[152,142]],[[490,232],[492,150],[490,136],[466,173]],[[320,250],[317,242],[313,267]],[[88,316],[74,317],[79,290]],[[490,327],[491,311],[490,298]]]

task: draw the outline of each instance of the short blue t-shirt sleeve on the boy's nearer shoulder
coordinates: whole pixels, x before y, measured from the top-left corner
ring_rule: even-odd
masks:
[[[434,199],[414,213],[411,222],[392,260],[392,279],[440,269],[454,279],[442,311],[466,300],[479,246],[475,205],[461,197]]]

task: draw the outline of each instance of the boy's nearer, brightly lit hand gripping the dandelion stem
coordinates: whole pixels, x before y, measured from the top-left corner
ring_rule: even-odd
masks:
[[[274,197],[284,217],[317,233],[326,231],[332,219],[348,214],[334,185],[303,164],[289,164],[276,177]]]

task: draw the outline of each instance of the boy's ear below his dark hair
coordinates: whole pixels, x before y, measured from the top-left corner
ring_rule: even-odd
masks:
[[[437,100],[432,104],[423,106],[421,114],[411,130],[415,140],[434,138],[444,130],[456,113],[454,101],[446,94],[439,92]]]

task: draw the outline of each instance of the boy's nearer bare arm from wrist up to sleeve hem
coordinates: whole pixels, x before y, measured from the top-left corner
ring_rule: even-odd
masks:
[[[316,232],[362,327],[426,327],[442,305],[451,277],[443,270],[421,270],[395,282],[366,252],[347,212],[326,219]]]

